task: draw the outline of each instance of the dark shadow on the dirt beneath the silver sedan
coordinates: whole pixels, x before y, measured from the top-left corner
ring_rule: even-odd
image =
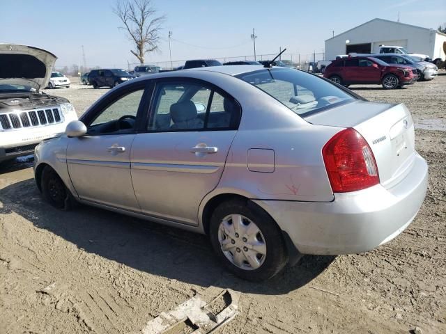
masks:
[[[61,212],[45,202],[33,179],[0,189],[0,214],[15,212],[78,248],[139,271],[200,285],[254,294],[287,294],[311,282],[334,256],[305,256],[294,267],[263,283],[225,271],[205,235],[79,205]]]

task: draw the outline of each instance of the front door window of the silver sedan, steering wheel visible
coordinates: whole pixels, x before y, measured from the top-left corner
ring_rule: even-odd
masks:
[[[141,88],[109,104],[91,122],[89,132],[109,133],[133,129],[143,93],[144,88]]]

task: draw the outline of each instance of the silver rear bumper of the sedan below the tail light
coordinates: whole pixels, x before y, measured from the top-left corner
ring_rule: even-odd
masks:
[[[253,200],[289,234],[303,254],[362,253],[397,237],[426,195],[428,168],[416,154],[410,173],[392,189],[380,184],[337,193],[332,202]]]

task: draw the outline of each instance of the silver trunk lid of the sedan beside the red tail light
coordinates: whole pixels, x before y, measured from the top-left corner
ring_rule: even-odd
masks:
[[[369,144],[380,184],[387,189],[410,170],[415,157],[415,130],[404,104],[356,101],[308,116],[314,125],[353,127]]]

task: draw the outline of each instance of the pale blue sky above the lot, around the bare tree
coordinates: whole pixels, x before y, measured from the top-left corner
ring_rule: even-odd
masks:
[[[56,67],[86,64],[127,68],[137,63],[132,44],[107,0],[0,0],[0,42],[33,45],[59,57]],[[446,22],[446,0],[251,1],[153,0],[167,16],[160,51],[146,63],[169,61],[172,31],[174,61],[252,55],[250,35],[256,29],[257,54],[279,47],[294,55],[322,52],[324,41],[380,17],[436,29]],[[176,65],[176,64],[174,64]]]

